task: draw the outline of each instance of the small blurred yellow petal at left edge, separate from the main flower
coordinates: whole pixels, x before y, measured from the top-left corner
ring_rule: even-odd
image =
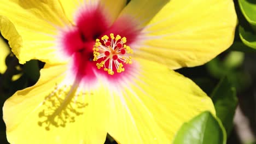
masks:
[[[0,38],[0,74],[3,74],[7,69],[5,65],[5,58],[9,55],[10,50],[5,41]]]

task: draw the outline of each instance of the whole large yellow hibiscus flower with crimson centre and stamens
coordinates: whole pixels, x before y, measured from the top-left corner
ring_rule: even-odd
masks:
[[[0,20],[20,63],[46,63],[5,101],[10,143],[103,143],[107,133],[170,143],[183,122],[215,112],[173,69],[226,50],[237,21],[231,0],[5,0]]]

